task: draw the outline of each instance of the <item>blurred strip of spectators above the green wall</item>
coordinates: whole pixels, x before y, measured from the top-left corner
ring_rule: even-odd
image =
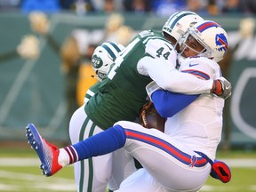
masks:
[[[156,13],[169,16],[170,12],[189,10],[199,14],[220,15],[225,13],[256,13],[255,0],[0,0],[0,10],[21,12],[74,11]]]

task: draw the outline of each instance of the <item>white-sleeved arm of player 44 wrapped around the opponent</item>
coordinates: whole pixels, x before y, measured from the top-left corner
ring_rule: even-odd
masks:
[[[180,73],[168,63],[168,60],[144,57],[139,61],[139,64],[141,70],[147,71],[148,76],[164,90],[185,94],[200,94],[209,93],[212,89],[212,79],[205,81],[188,73]]]

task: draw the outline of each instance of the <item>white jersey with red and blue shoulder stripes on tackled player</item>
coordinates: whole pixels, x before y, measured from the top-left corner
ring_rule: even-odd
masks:
[[[205,80],[221,76],[220,66],[204,57],[184,60],[180,71]],[[213,160],[221,139],[223,108],[223,99],[211,93],[203,93],[187,108],[167,119],[165,133]]]

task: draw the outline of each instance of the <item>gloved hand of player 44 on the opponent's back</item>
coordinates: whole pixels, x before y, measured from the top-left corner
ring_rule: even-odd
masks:
[[[220,96],[224,100],[231,96],[232,86],[231,83],[224,77],[220,77],[213,81],[212,93]]]

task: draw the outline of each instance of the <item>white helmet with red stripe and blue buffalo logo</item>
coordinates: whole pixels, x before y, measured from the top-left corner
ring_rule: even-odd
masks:
[[[189,36],[193,36],[198,43],[204,46],[204,50],[198,52],[198,56],[203,56],[218,62],[223,59],[228,51],[227,32],[221,28],[218,23],[212,20],[203,20],[188,28],[188,33],[185,38],[181,40],[181,44],[185,45],[184,47],[188,47],[186,41]],[[193,50],[191,47],[188,48]]]

